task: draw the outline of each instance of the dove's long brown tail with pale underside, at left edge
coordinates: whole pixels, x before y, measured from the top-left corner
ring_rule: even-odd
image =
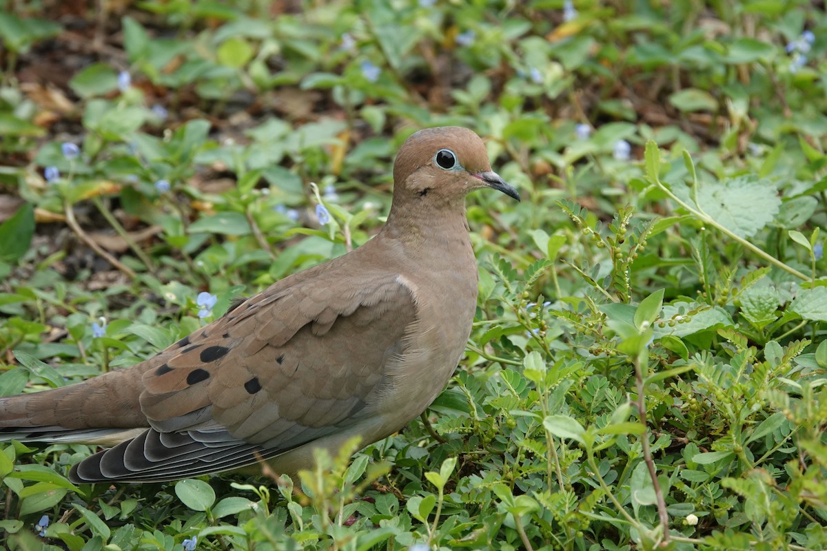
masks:
[[[0,441],[112,445],[140,434],[149,424],[141,413],[135,366],[86,382],[0,397]]]

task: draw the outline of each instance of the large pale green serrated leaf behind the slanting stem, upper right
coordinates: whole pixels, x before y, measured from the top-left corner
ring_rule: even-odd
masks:
[[[700,186],[698,207],[735,235],[748,238],[775,219],[781,198],[768,180],[741,176]]]

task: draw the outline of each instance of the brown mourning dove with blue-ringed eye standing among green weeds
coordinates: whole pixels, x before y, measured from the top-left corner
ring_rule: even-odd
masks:
[[[0,398],[2,439],[113,445],[73,482],[160,482],[268,460],[291,476],[402,428],[442,392],[471,334],[465,196],[519,193],[459,127],[411,135],[374,239],[274,283],[131,368]]]

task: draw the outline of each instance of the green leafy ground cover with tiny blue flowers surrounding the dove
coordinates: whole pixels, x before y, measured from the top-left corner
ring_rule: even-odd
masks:
[[[523,194],[469,197],[427,424],[296,487],[74,487],[93,449],[6,444],[8,549],[827,547],[823,2],[0,7],[0,395],[364,243],[418,128]]]

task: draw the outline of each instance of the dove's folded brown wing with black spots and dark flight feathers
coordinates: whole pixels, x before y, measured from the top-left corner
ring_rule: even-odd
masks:
[[[352,267],[351,267],[352,268]],[[142,378],[151,429],[84,460],[80,481],[239,468],[370,417],[417,312],[394,273],[289,278],[159,354]],[[400,420],[400,425],[406,420]]]

